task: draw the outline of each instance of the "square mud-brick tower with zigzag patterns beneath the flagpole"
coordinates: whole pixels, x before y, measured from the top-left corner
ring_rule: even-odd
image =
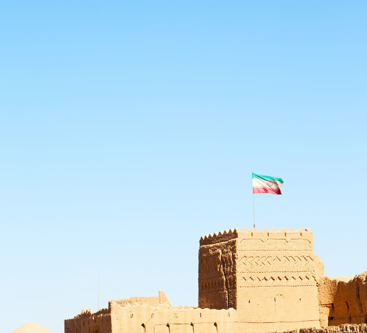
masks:
[[[206,235],[199,249],[199,306],[229,305],[240,326],[254,332],[320,327],[316,279],[323,271],[308,229]]]

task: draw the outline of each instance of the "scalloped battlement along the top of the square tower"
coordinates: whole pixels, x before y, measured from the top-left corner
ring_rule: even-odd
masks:
[[[235,229],[229,229],[211,233],[205,236],[201,236],[200,238],[200,246],[204,245],[210,245],[210,244],[216,244],[216,243],[222,243],[229,241],[231,239],[307,239],[309,241],[312,241],[313,234],[310,229],[299,229],[294,230],[293,228],[290,228],[287,230],[286,228],[282,228],[279,231],[275,228],[268,230],[268,229],[261,229],[258,230],[256,228],[253,228],[251,230],[248,230],[246,228],[243,228],[242,230],[239,230],[238,228]]]

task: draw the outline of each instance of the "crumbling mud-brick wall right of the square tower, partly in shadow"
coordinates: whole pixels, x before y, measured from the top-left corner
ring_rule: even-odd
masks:
[[[321,327],[367,323],[367,271],[354,278],[321,276],[317,290]]]

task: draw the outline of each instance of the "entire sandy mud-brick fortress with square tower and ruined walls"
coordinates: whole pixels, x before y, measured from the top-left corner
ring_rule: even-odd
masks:
[[[199,307],[172,307],[159,291],[83,309],[65,320],[65,333],[325,332],[367,323],[367,271],[348,278],[323,272],[309,229],[220,231],[200,239]]]

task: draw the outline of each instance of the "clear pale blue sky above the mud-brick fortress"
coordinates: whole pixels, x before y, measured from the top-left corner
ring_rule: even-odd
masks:
[[[197,305],[201,235],[310,228],[366,260],[366,1],[3,1],[4,332],[108,300]]]

